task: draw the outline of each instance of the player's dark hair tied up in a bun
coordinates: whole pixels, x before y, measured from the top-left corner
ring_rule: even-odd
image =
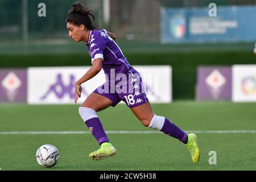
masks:
[[[93,19],[93,21],[92,21]],[[66,23],[72,23],[76,26],[84,24],[88,30],[94,30],[95,17],[92,14],[92,10],[86,9],[81,3],[74,3],[72,8],[68,11],[68,16],[65,20]]]

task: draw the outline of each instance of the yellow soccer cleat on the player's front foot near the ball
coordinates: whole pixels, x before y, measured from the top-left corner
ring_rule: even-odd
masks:
[[[101,144],[100,149],[90,153],[89,158],[92,160],[101,160],[115,154],[117,154],[117,150],[115,150],[111,143],[105,142]]]

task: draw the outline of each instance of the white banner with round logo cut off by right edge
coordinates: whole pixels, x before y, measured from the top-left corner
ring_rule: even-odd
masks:
[[[256,102],[256,65],[233,65],[232,101]]]

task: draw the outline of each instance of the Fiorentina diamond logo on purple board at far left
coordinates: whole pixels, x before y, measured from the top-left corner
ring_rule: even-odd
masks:
[[[6,93],[8,100],[14,101],[16,95],[19,92],[20,86],[22,85],[22,82],[14,72],[10,72],[5,78],[3,78],[1,85]]]

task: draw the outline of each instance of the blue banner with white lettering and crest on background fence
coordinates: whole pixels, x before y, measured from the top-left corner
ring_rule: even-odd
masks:
[[[256,40],[256,6],[161,10],[162,43],[253,42]]]

